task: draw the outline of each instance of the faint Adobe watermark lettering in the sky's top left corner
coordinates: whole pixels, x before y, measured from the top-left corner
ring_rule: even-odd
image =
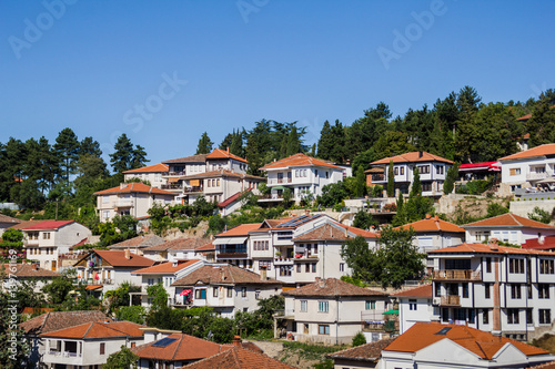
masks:
[[[42,39],[46,31],[50,30],[56,20],[60,20],[67,10],[67,6],[72,6],[78,0],[44,0],[41,2],[46,11],[41,12],[34,19],[34,22],[29,18],[23,20],[26,28],[23,30],[23,37],[18,38],[16,35],[10,35],[8,38],[8,43],[13,51],[17,59],[21,59],[21,51],[23,49],[31,49],[32,45]]]

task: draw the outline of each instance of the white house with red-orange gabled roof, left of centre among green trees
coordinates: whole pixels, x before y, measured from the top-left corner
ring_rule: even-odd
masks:
[[[122,283],[141,285],[140,276],[131,275],[132,271],[150,267],[154,260],[144,256],[124,252],[93,249],[82,256],[74,267],[78,281],[89,285],[103,285],[104,291],[118,288]]]

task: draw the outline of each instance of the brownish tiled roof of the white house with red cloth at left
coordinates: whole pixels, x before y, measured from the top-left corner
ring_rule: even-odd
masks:
[[[172,286],[194,286],[198,283],[213,285],[281,285],[275,279],[262,280],[254,271],[239,268],[234,265],[205,265],[181,279],[175,280]]]

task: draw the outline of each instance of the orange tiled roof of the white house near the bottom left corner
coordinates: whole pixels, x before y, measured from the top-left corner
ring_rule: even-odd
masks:
[[[144,326],[131,321],[90,321],[79,326],[46,332],[41,336],[73,339],[143,337],[144,331],[139,329],[141,327]]]

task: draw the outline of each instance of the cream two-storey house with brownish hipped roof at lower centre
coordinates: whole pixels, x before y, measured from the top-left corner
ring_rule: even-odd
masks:
[[[386,293],[327,278],[283,291],[285,309],[278,318],[295,340],[327,345],[350,344],[365,320],[383,326],[390,306]]]

